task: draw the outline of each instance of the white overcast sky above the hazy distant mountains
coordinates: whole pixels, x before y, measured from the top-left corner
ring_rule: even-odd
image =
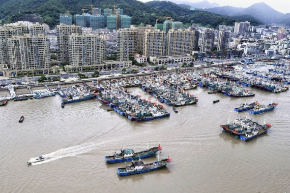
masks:
[[[139,0],[140,2],[150,2],[150,0]],[[172,2],[202,2],[203,0],[173,0]],[[170,0],[169,0],[170,2]],[[264,2],[273,9],[282,12],[290,13],[289,0],[208,0],[210,3],[217,3],[220,6],[234,6],[234,7],[249,7],[255,3]]]

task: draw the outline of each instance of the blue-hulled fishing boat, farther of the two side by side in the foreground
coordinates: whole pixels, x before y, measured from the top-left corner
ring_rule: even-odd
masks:
[[[105,156],[105,160],[109,164],[118,162],[128,162],[130,160],[154,156],[158,151],[161,150],[162,147],[160,146],[160,144],[157,147],[149,148],[149,143],[148,148],[146,150],[139,152],[134,152],[133,149],[125,149],[122,147],[120,153],[113,152],[113,155]]]

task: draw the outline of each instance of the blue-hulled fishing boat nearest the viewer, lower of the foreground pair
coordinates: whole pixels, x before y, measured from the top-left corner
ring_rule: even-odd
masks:
[[[129,166],[125,166],[124,168],[117,168],[117,173],[120,176],[127,176],[127,175],[132,175],[132,174],[151,172],[154,170],[158,170],[160,168],[164,168],[170,162],[172,162],[172,159],[169,156],[165,159],[159,160],[159,153],[158,153],[158,160],[156,162],[144,164],[141,159],[139,159],[138,162],[134,162],[132,160]]]

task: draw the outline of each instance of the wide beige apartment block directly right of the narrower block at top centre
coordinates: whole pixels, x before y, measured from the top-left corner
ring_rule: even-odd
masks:
[[[166,55],[186,55],[194,51],[196,44],[195,30],[170,29],[167,33]]]

